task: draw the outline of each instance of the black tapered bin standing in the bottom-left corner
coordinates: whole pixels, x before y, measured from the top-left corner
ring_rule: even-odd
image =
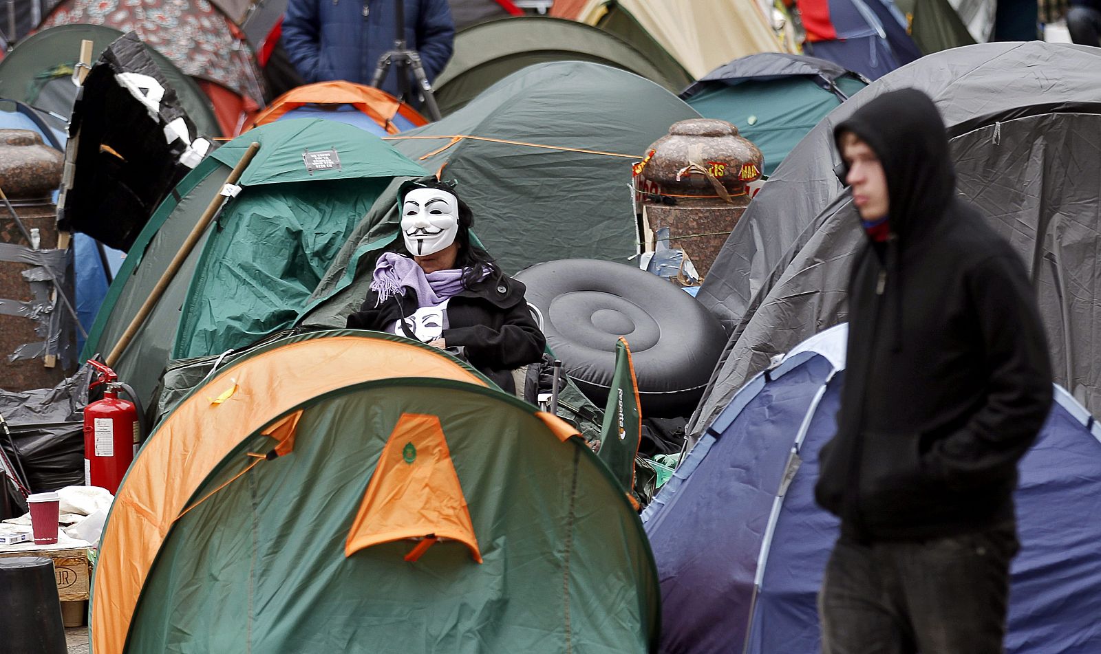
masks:
[[[54,562],[0,558],[0,639],[4,652],[66,654]]]

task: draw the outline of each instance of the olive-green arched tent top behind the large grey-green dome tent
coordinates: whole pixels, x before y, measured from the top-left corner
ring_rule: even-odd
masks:
[[[664,51],[662,51],[664,52]],[[591,62],[630,70],[677,92],[691,79],[676,59],[644,54],[609,32],[563,19],[511,18],[469,26],[455,37],[455,55],[435,81],[447,116],[480,92],[527,66]]]

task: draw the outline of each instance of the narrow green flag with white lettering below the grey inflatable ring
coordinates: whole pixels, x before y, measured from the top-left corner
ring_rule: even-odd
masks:
[[[631,348],[622,337],[615,344],[615,373],[608,390],[604,424],[597,456],[631,494],[634,488],[634,458],[639,454],[642,413],[639,410],[639,383],[634,379]]]

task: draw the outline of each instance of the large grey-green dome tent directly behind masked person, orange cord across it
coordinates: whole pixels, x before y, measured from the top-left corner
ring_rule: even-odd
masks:
[[[388,141],[458,181],[478,237],[514,273],[554,259],[634,255],[631,164],[671,124],[698,117],[632,73],[554,62],[513,73],[459,111]]]

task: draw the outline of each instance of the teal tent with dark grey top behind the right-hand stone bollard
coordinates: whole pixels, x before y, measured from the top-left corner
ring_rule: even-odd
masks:
[[[783,53],[749,55],[708,73],[680,97],[706,118],[734,123],[764,154],[764,174],[818,121],[868,86],[825,59]]]

